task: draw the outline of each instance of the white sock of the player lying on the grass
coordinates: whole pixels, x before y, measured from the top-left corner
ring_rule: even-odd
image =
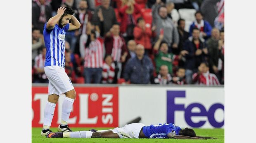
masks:
[[[92,131],[72,131],[72,132],[64,132],[63,138],[91,138]]]

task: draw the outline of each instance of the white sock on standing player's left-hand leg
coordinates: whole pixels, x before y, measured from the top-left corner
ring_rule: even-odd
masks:
[[[51,103],[49,101],[46,102],[45,111],[44,111],[44,120],[43,127],[49,127],[52,124],[52,118],[55,110],[55,103]]]

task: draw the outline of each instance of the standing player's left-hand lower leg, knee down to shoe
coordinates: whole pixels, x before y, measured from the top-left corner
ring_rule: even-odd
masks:
[[[59,99],[59,95],[56,95],[56,94],[48,95],[48,101],[45,105],[44,123],[43,123],[43,129],[41,131],[41,136],[45,136],[47,133],[52,132],[50,131],[50,126],[52,123],[52,118],[53,118],[55,106],[58,99]]]

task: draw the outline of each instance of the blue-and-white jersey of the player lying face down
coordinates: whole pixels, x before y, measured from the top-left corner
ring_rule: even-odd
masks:
[[[180,127],[169,123],[169,124],[158,124],[142,127],[142,131],[147,138],[168,138],[167,134],[173,133],[179,135]]]

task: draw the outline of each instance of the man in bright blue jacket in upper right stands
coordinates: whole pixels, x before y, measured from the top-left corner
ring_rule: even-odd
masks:
[[[200,30],[200,38],[204,38],[206,41],[211,37],[211,25],[208,21],[205,21],[201,12],[196,12],[194,14],[196,20],[190,25],[190,36],[192,35],[193,28],[198,28]],[[204,42],[204,41],[203,41]]]

